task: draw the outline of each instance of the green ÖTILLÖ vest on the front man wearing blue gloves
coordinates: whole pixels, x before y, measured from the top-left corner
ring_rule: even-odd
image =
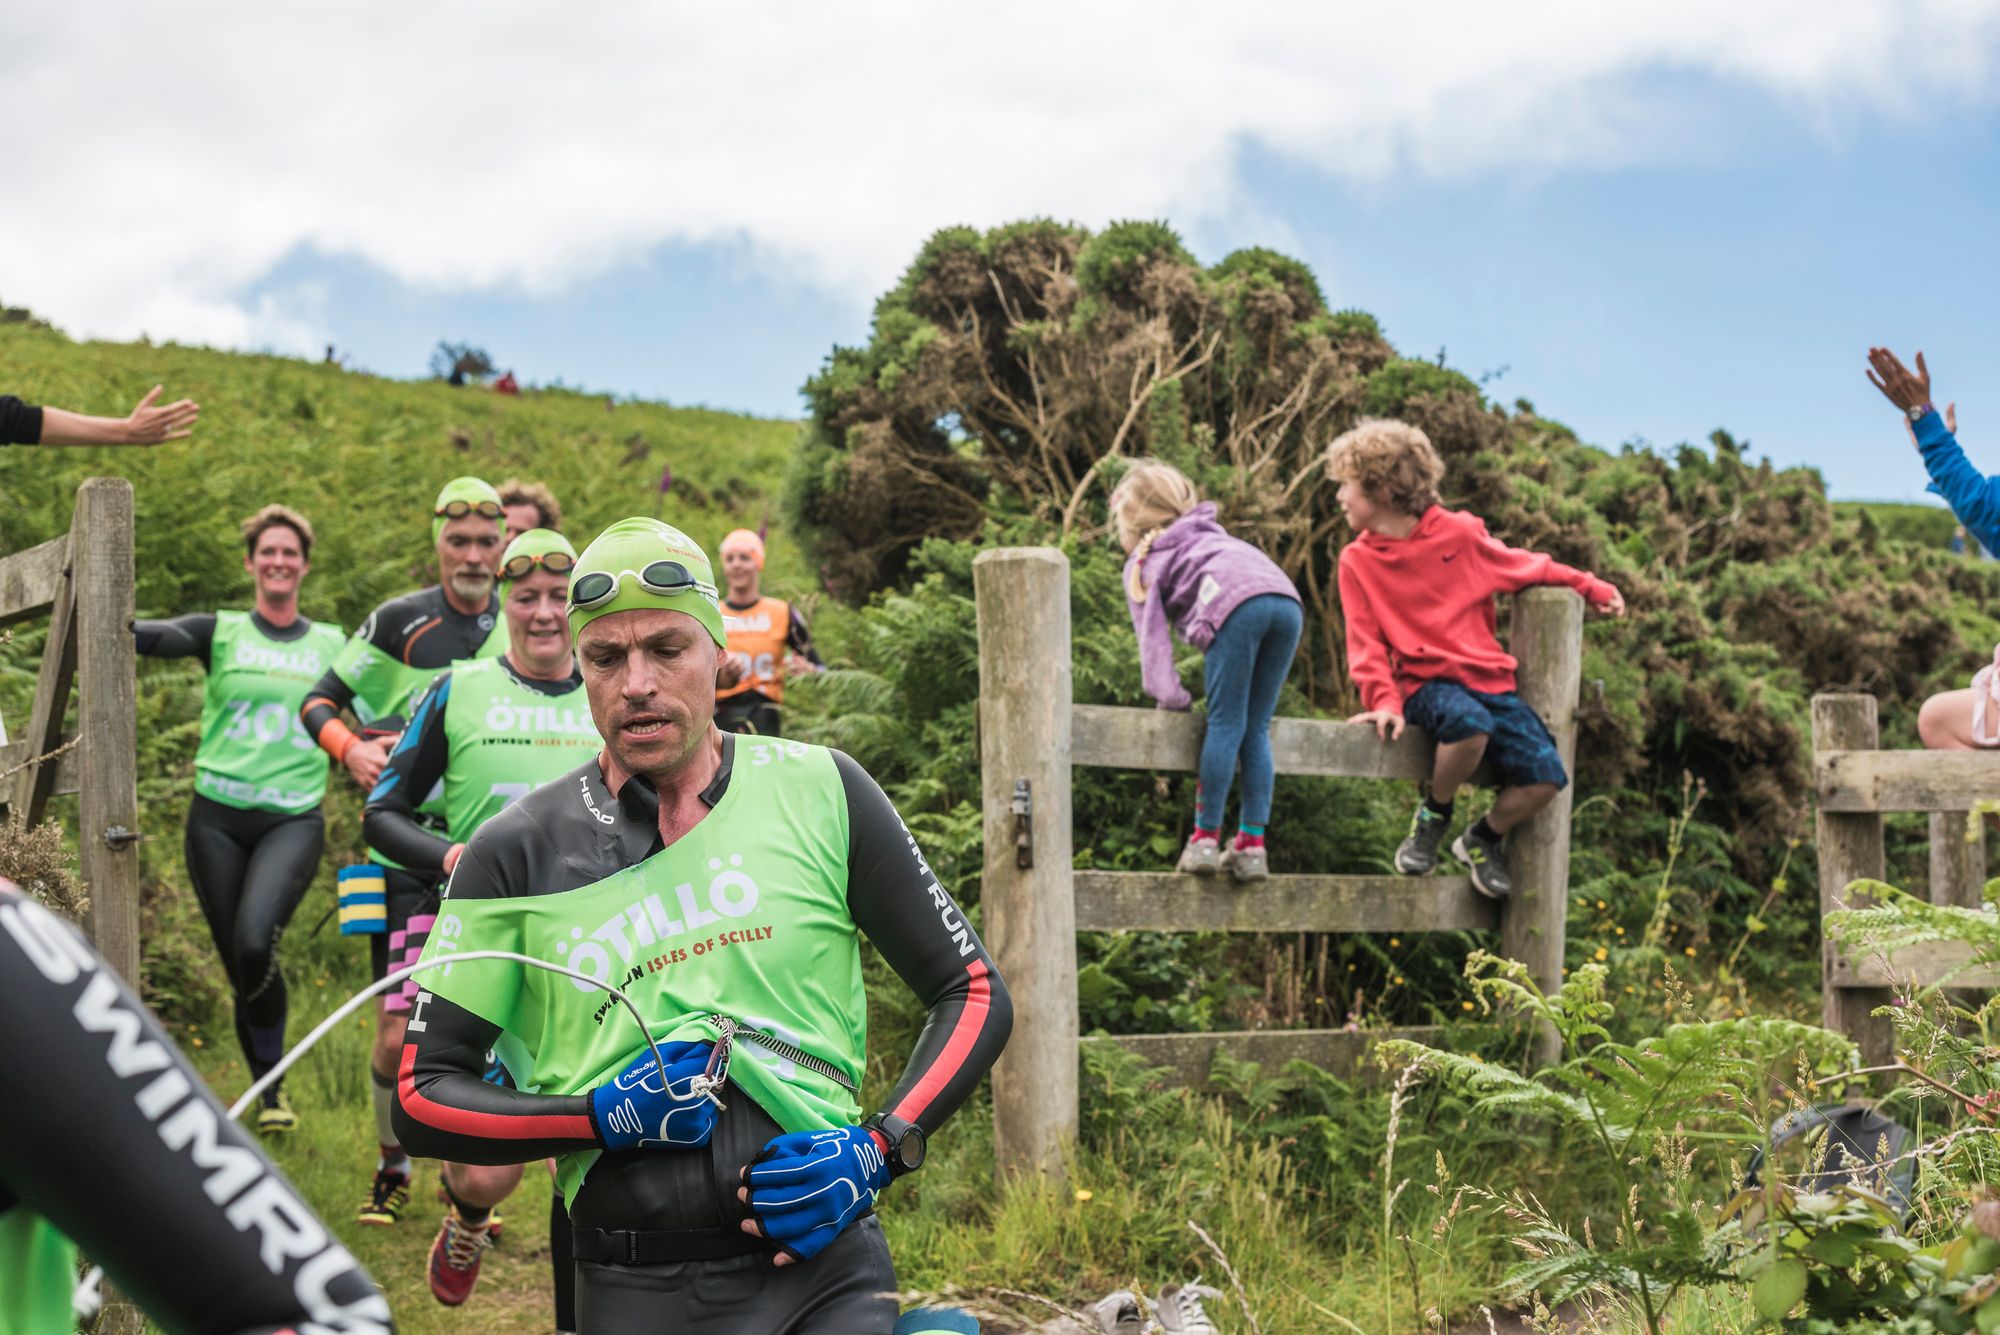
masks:
[[[848,915],[848,807],[824,747],[740,737],[722,801],[670,847],[592,885],[446,897],[424,959],[470,949],[512,949],[608,981],[654,1041],[714,1039],[708,1015],[730,1015],[862,1083],[868,999]],[[584,1093],[644,1049],[622,1005],[560,973],[474,959],[418,977],[504,1029],[496,1051],[532,1093]],[[860,1117],[852,1093],[754,1041],[736,1043],[730,1079],[786,1131]],[[596,1155],[558,1157],[564,1199]]]

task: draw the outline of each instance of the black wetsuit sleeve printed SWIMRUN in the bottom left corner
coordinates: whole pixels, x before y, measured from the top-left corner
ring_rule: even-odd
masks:
[[[392,1329],[366,1271],[132,989],[10,887],[0,991],[0,1067],[14,1073],[0,1099],[0,1217],[46,1219],[174,1335]],[[8,1283],[30,1279],[0,1273]]]

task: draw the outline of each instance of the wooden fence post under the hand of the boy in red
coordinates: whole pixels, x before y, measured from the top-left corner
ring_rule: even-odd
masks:
[[[1562,947],[1570,919],[1570,807],[1576,801],[1576,693],[1584,683],[1584,600],[1570,590],[1526,590],[1514,602],[1514,658],[1520,697],[1556,737],[1570,783],[1522,821],[1508,841],[1514,895],[1500,909],[1500,953],[1520,959],[1544,991],[1562,987]],[[1548,1025],[1536,1029],[1536,1065],[1560,1057]]]

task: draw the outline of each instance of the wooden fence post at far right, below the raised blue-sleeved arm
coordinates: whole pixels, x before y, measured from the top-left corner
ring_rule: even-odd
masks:
[[[1874,695],[1814,695],[1812,751],[1872,751],[1880,743]],[[1820,917],[1840,903],[1858,903],[1848,883],[1882,879],[1882,813],[1818,809]],[[1936,831],[1932,831],[1936,835]],[[1862,1065],[1884,1065],[1894,1057],[1896,1033],[1886,1019],[1870,1015],[1890,997],[1884,987],[1836,987],[1836,947],[1820,929],[1820,1023],[1846,1033],[1862,1049]]]

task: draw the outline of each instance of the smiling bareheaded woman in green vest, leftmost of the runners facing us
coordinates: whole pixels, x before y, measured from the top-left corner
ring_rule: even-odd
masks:
[[[264,506],[244,520],[244,570],[256,582],[250,612],[192,612],[136,622],[148,658],[198,658],[208,668],[202,741],[188,807],[188,879],[236,997],[236,1041],[252,1079],[284,1055],[286,991],[278,937],[320,869],[326,823],[326,751],[298,707],[334,662],[338,626],[298,614],[312,526],[296,510]],[[298,1115],[272,1085],[258,1131],[292,1131]]]

